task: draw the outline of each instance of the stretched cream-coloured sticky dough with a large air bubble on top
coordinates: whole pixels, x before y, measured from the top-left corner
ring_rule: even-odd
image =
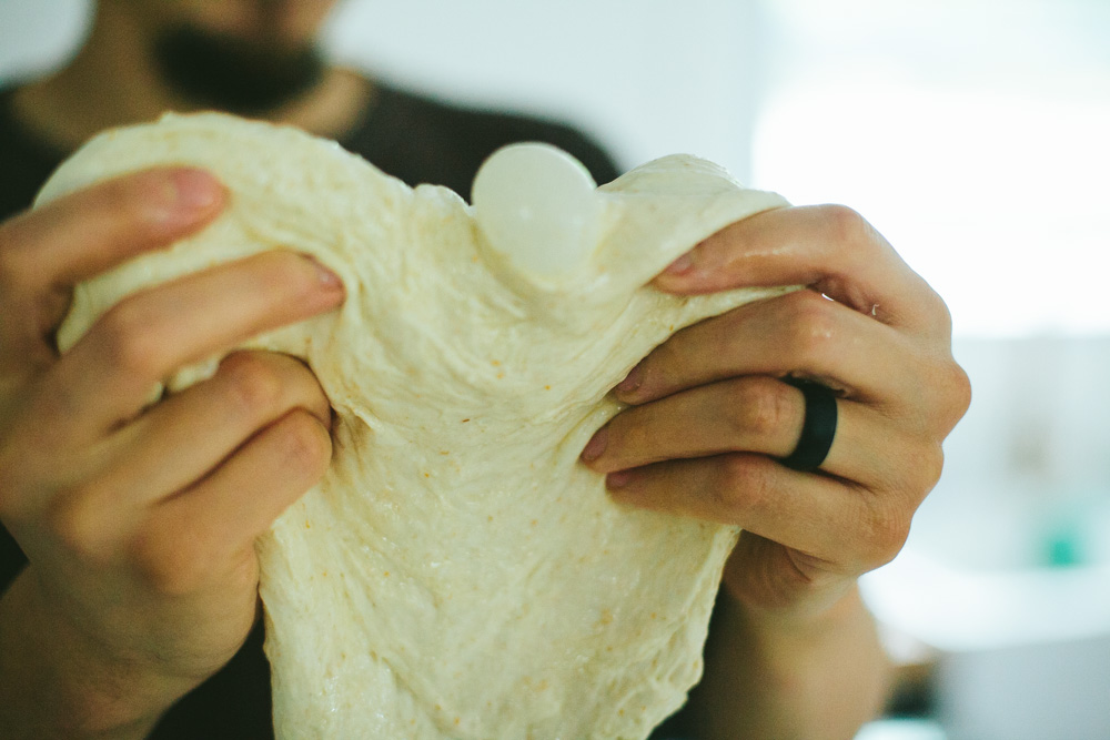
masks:
[[[468,206],[292,129],[167,116],[98,136],[40,195],[165,163],[231,192],[199,235],[79,286],[63,349],[123,295],[262,250],[346,285],[340,311],[246,345],[303,357],[339,419],[325,478],[259,544],[279,738],[644,738],[698,679],[737,530],[619,507],[577,456],[653,347],[777,292],[645,284],[784,202],[690,156],[583,200],[551,154],[506,154]],[[567,209],[578,243],[529,252]]]

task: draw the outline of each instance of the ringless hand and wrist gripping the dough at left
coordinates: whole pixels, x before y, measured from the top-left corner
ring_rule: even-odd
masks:
[[[77,282],[198,230],[223,201],[210,175],[160,169],[0,225],[0,520],[30,561],[0,600],[0,730],[46,728],[28,718],[50,711],[72,721],[67,737],[149,727],[245,639],[253,540],[326,468],[327,399],[290,357],[230,355],[144,408],[180,366],[340,304],[337,278],[306,257],[264,253],[139,292],[53,348]]]

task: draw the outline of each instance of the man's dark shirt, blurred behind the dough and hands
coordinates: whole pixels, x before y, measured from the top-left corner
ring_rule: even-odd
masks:
[[[0,220],[30,206],[34,194],[68,152],[37,139],[12,114],[12,90],[0,91]],[[410,185],[446,185],[470,200],[478,165],[494,150],[518,141],[544,141],[574,154],[605,183],[617,176],[613,160],[574,128],[503,112],[452,105],[396,88],[375,88],[373,105],[341,143]],[[0,526],[0,592],[27,559]],[[219,673],[183,698],[151,736],[158,740],[255,740],[273,737],[270,665],[255,627]]]

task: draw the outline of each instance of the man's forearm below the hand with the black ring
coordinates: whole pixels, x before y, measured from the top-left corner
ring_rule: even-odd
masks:
[[[706,740],[850,740],[882,708],[890,666],[854,589],[820,618],[753,616],[726,591],[705,676],[683,710]]]

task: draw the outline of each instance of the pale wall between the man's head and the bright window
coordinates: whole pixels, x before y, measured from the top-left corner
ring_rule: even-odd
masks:
[[[626,164],[690,151],[749,172],[747,0],[353,0],[341,54],[463,99],[563,111]]]

